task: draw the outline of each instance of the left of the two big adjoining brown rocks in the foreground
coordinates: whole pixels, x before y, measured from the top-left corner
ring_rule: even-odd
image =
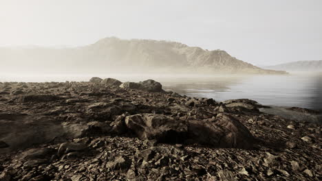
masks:
[[[182,139],[188,127],[182,121],[162,114],[135,114],[125,118],[127,128],[142,139],[175,143]]]

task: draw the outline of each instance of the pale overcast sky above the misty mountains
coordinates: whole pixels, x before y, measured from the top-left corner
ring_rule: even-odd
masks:
[[[322,0],[0,0],[0,46],[173,40],[257,65],[322,60]]]

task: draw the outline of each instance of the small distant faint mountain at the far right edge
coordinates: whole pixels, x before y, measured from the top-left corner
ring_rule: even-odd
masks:
[[[263,68],[279,71],[322,71],[322,60],[297,61]]]

